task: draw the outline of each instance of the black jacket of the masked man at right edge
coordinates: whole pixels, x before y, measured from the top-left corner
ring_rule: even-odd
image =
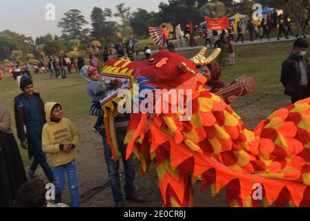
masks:
[[[307,69],[308,81],[310,82],[308,59],[296,55],[289,55],[289,57],[287,57],[282,63],[280,81],[285,88],[284,95],[291,95],[300,87],[299,85],[302,75],[300,70],[300,60],[304,63],[304,66]]]

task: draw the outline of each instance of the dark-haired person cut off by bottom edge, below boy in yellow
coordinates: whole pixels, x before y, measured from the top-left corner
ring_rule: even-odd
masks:
[[[18,191],[17,207],[69,207],[64,203],[53,204],[46,200],[43,180],[35,178],[24,182]]]

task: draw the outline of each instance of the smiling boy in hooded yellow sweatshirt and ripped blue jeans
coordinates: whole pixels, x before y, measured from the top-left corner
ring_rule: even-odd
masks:
[[[52,155],[52,171],[55,176],[56,203],[61,202],[61,193],[66,184],[65,173],[71,195],[71,206],[78,207],[79,189],[75,158],[79,131],[70,119],[64,117],[60,104],[49,102],[45,106],[46,124],[42,131],[42,146],[44,153]]]

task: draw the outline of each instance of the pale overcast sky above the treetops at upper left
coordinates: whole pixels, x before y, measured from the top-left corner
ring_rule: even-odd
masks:
[[[78,9],[82,12],[88,22],[90,22],[90,12],[95,6],[100,8],[111,8],[116,12],[115,6],[125,3],[131,8],[131,12],[137,8],[144,8],[148,11],[158,11],[160,2],[168,0],[9,0],[1,1],[0,31],[12,30],[20,34],[31,36],[61,35],[61,29],[57,23],[63,17],[64,12],[70,9]],[[55,5],[55,21],[47,21],[46,4]],[[115,18],[111,19],[119,21]]]

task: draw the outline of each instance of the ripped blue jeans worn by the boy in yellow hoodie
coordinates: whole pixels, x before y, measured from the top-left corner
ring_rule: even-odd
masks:
[[[52,171],[55,176],[56,195],[63,193],[66,185],[65,173],[67,173],[68,186],[71,195],[71,207],[79,207],[79,187],[77,184],[75,160],[68,164],[55,166]]]

